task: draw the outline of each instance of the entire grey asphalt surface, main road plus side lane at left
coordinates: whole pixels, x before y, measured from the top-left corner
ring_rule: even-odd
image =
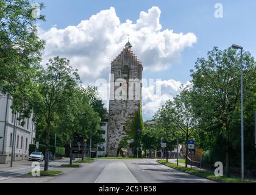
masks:
[[[152,159],[103,160],[84,163],[80,168],[60,168],[63,161],[50,163],[50,169],[64,173],[57,177],[31,177],[29,163],[14,168],[0,169],[0,182],[44,183],[201,183],[211,180],[168,168]],[[31,165],[31,163],[30,163]]]

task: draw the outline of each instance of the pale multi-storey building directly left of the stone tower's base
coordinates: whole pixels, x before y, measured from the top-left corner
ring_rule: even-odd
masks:
[[[105,119],[101,124],[102,142],[98,143],[97,157],[105,157],[107,155],[107,124],[108,119]]]

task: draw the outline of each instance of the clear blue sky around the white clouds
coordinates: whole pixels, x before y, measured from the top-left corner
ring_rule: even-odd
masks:
[[[240,0],[240,1],[239,0],[237,1],[232,1],[232,0],[226,0],[226,1],[220,1],[220,0],[219,1],[212,1],[212,0],[207,0],[207,1],[205,0],[200,0],[200,1],[199,0],[194,0],[194,1],[191,1],[191,0],[187,0],[187,1],[185,0],[184,1],[43,0],[40,2],[44,2],[46,6],[46,8],[41,11],[41,14],[46,15],[46,22],[40,22],[40,28],[43,29],[44,32],[48,32],[49,30],[48,34],[44,34],[44,37],[48,38],[49,43],[52,43],[52,42],[55,43],[55,40],[56,40],[56,39],[52,40],[51,36],[56,36],[57,38],[60,34],[62,34],[62,31],[58,31],[58,34],[56,33],[56,30],[51,31],[50,29],[52,27],[56,27],[58,30],[60,30],[60,29],[66,29],[66,27],[68,26],[77,26],[82,20],[88,20],[92,15],[96,15],[97,13],[101,12],[101,10],[109,10],[110,7],[115,8],[116,16],[118,16],[121,24],[126,23],[127,19],[131,20],[133,24],[136,24],[137,19],[140,18],[140,13],[142,11],[149,13],[149,9],[151,9],[153,6],[158,7],[157,10],[160,10],[161,12],[161,15],[160,15],[160,25],[162,26],[162,29],[160,30],[161,32],[167,29],[167,30],[173,30],[173,33],[175,35],[180,33],[183,33],[184,35],[188,33],[193,33],[197,38],[196,43],[195,41],[194,42],[192,41],[193,44],[191,46],[188,46],[189,43],[187,43],[186,46],[184,46],[184,48],[181,51],[174,53],[174,55],[180,55],[180,57],[177,57],[176,60],[173,60],[173,56],[172,57],[170,57],[171,55],[169,56],[170,63],[171,63],[171,66],[169,68],[163,69],[162,71],[154,71],[152,69],[148,69],[143,73],[144,78],[173,80],[172,83],[168,84],[169,86],[172,86],[172,90],[174,90],[176,85],[179,85],[178,82],[186,83],[188,80],[191,79],[190,69],[193,69],[194,62],[196,61],[197,57],[205,57],[205,55],[207,54],[207,51],[210,51],[214,46],[218,46],[220,49],[226,49],[233,43],[240,44],[241,46],[244,47],[245,50],[251,52],[251,54],[254,57],[256,56],[256,48],[255,48],[256,1],[254,0],[251,0],[251,1],[249,0]],[[215,18],[216,3],[221,3],[223,5],[223,18]],[[157,15],[157,10],[154,9],[155,11],[154,14],[156,15]],[[113,18],[114,18],[113,21],[115,23],[115,17]],[[68,29],[67,32],[66,31],[65,32],[70,33],[72,30],[76,31],[76,29],[71,28],[71,29]],[[62,36],[65,38],[65,35],[62,35]],[[126,36],[125,33],[124,33],[124,36]],[[131,43],[135,42],[135,45],[136,43],[140,43],[138,40],[135,40],[135,39],[136,37],[131,37]],[[137,47],[139,47],[138,44],[137,44]],[[51,47],[48,47],[46,49],[49,49],[49,48]],[[79,48],[79,46],[77,46],[76,48]],[[133,48],[136,51],[136,48],[135,47]],[[52,48],[49,50],[54,51],[54,49]],[[74,53],[74,52],[75,51],[73,49],[73,51],[69,52],[68,54],[68,56],[71,57],[71,59],[72,59],[71,53]],[[80,51],[78,51],[78,53],[79,52]],[[117,55],[118,52],[119,51],[116,51],[115,55]],[[55,51],[53,53],[58,55],[63,53],[66,54],[66,52],[60,52],[60,51]],[[141,56],[143,56],[143,52],[138,51],[138,53],[141,54]],[[102,56],[99,55],[98,58],[102,58]],[[138,58],[140,59],[140,55],[138,55]],[[93,61],[97,62],[97,59],[93,59]],[[73,62],[76,62],[76,59],[74,59]],[[166,61],[162,63],[166,63],[166,62],[168,62],[168,58],[166,58]],[[90,59],[89,59],[89,63],[90,63]],[[148,62],[144,62],[144,63],[148,63]],[[83,66],[81,65],[77,65],[77,67],[83,68]],[[88,71],[88,69],[85,68],[84,71]],[[104,73],[104,71],[102,72]],[[85,77],[88,77],[88,75],[85,74]],[[179,90],[176,89],[172,91],[172,93],[166,97],[175,96],[176,93],[179,93]],[[162,105],[165,102],[165,100],[166,98],[164,98],[160,104]],[[154,101],[151,101],[151,105],[154,105]],[[158,105],[158,107],[159,106],[160,105]],[[157,109],[157,107],[151,107],[151,111],[155,109]],[[150,118],[152,114],[153,114],[153,111],[151,115],[148,115],[148,116],[145,115],[145,116],[146,118]]]

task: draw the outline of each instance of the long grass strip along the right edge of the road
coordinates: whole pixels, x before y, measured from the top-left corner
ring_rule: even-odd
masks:
[[[174,163],[166,163],[166,160],[157,160],[158,163],[162,165],[169,166],[174,169],[178,169],[179,171],[187,172],[189,174],[193,174],[194,176],[204,177],[205,179],[214,180],[216,182],[224,182],[224,183],[241,183],[240,178],[236,177],[218,177],[211,171],[199,171],[197,169],[185,168],[185,166],[177,166]],[[245,183],[255,183],[252,180],[244,180]]]

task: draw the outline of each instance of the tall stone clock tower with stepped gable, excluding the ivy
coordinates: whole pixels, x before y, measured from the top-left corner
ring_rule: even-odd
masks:
[[[108,157],[118,155],[121,149],[120,142],[129,130],[127,122],[136,111],[140,111],[143,66],[131,48],[132,44],[128,41],[123,51],[111,63]],[[129,150],[129,147],[126,148]],[[128,155],[132,156],[132,150],[129,150]]]

